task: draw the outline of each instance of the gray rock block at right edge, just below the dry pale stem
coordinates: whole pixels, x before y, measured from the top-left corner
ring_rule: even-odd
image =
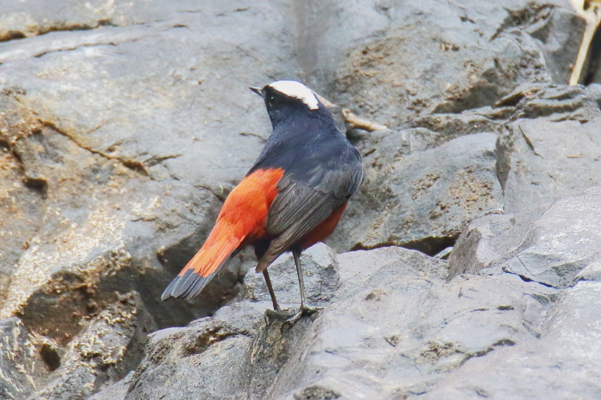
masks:
[[[601,112],[583,88],[522,86],[501,101],[516,104],[515,122],[499,137],[505,210],[601,184]]]

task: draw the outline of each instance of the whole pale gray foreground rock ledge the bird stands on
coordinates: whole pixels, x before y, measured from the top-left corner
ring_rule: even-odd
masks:
[[[319,314],[292,328],[264,315],[251,272],[239,301],[151,334],[136,372],[94,399],[597,398],[599,209],[594,188],[475,219],[448,262],[315,246],[303,261]],[[294,307],[293,260],[272,270]]]

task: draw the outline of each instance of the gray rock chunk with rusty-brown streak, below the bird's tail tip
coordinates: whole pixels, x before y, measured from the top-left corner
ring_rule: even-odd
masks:
[[[192,393],[205,399],[232,398],[243,385],[240,356],[250,342],[245,330],[210,318],[190,327],[160,330],[150,336],[148,358],[125,398],[181,399]],[[227,367],[217,373],[224,362]]]

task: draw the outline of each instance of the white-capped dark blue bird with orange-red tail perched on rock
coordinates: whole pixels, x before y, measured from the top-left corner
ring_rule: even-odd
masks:
[[[361,155],[304,83],[277,80],[249,89],[263,98],[273,131],[225,199],[203,246],[161,299],[197,296],[238,252],[253,246],[255,272],[263,272],[273,309],[279,311],[267,267],[291,252],[301,292],[301,306],[287,320],[294,324],[317,310],[307,303],[301,253],[334,231],[361,185]]]

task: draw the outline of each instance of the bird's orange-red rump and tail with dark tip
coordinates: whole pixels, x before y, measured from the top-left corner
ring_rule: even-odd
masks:
[[[265,235],[267,211],[282,175],[281,169],[267,169],[242,179],[225,199],[203,247],[163,291],[161,300],[196,296],[244,245]]]

